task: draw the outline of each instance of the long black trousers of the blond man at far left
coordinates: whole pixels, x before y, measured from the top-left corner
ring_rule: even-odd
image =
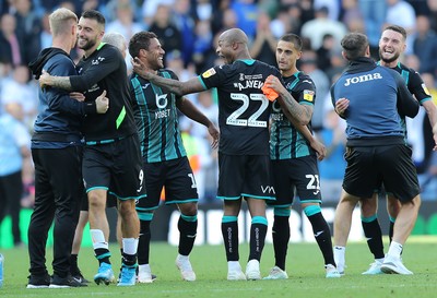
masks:
[[[82,147],[33,148],[35,164],[35,208],[28,226],[32,275],[47,273],[46,243],[54,223],[54,273],[70,272],[70,253],[83,192]]]

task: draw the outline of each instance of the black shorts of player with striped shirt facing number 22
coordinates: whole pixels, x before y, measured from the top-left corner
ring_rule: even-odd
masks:
[[[137,211],[152,211],[160,206],[165,188],[165,204],[198,202],[198,187],[187,157],[161,163],[144,163],[147,196],[138,200]]]

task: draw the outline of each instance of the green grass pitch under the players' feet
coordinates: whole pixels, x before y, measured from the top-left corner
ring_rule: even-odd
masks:
[[[387,251],[387,240],[386,251]],[[134,287],[116,285],[84,288],[26,289],[28,255],[26,248],[3,250],[4,284],[0,298],[9,297],[322,297],[322,298],[423,298],[437,297],[437,238],[411,237],[404,247],[403,260],[412,276],[377,275],[365,276],[373,261],[365,242],[350,243],[346,250],[346,275],[328,279],[321,254],[316,243],[291,243],[288,246],[287,281],[226,281],[226,261],[222,246],[194,247],[190,257],[198,281],[182,282],[175,266],[177,248],[167,243],[152,243],[151,267],[157,275],[153,284],[138,284]],[[111,246],[113,266],[116,274],[120,265],[119,250]],[[240,245],[240,263],[246,266],[248,246]],[[47,254],[51,266],[51,249]],[[97,261],[91,248],[81,250],[80,266],[85,277],[92,279],[97,270]],[[261,260],[261,273],[265,276],[273,265],[273,247],[267,245]]]

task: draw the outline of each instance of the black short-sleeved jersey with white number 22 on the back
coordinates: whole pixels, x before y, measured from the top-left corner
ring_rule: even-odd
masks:
[[[205,90],[218,94],[218,151],[229,155],[269,155],[271,103],[261,87],[269,75],[281,79],[274,67],[258,60],[237,60],[199,75]]]

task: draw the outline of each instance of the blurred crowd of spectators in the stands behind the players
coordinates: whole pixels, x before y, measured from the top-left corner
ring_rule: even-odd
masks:
[[[59,7],[69,8],[78,15],[91,9],[101,11],[107,21],[106,33],[121,33],[126,40],[141,31],[156,33],[166,50],[165,65],[181,81],[217,63],[216,39],[225,29],[241,28],[249,38],[252,58],[272,65],[276,65],[276,40],[285,33],[302,36],[303,55],[297,63],[315,81],[318,94],[311,124],[328,148],[327,158],[319,165],[324,200],[340,198],[345,167],[344,122],[333,111],[329,88],[346,65],[340,47],[346,33],[365,33],[371,56],[378,60],[378,40],[383,26],[403,26],[409,37],[402,62],[421,73],[433,99],[437,100],[437,60],[434,57],[437,52],[437,1],[434,0],[3,0],[0,2],[0,116],[10,114],[8,107],[14,104],[14,118],[29,132],[23,138],[31,138],[38,106],[39,85],[32,79],[27,64],[43,48],[51,45],[48,15]],[[73,50],[73,58],[79,60],[81,56],[79,49]],[[131,69],[131,58],[126,59]],[[217,122],[214,92],[188,98]],[[208,131],[201,124],[182,116],[180,124],[198,180],[200,203],[214,203],[216,151],[211,150]],[[432,128],[423,109],[409,126],[413,158],[423,181],[422,198],[435,200],[437,156],[432,150]],[[0,128],[0,134],[7,132],[7,128]],[[3,145],[5,143],[0,144],[0,152]],[[31,157],[23,158],[21,204],[28,207],[33,204],[34,174]],[[0,175],[7,172],[2,169],[7,164],[3,159],[0,156]]]

